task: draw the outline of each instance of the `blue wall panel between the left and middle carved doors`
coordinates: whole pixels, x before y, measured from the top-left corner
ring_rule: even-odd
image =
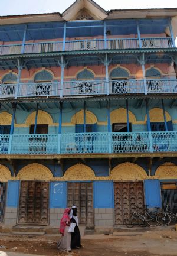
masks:
[[[50,182],[50,208],[65,208],[66,182]]]

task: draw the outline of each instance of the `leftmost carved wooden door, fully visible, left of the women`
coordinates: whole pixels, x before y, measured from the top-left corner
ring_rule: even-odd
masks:
[[[48,182],[21,182],[18,223],[48,225]]]

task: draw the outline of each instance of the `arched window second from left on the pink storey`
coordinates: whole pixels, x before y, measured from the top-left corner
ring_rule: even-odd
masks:
[[[42,70],[35,74],[34,82],[38,83],[35,86],[35,94],[37,96],[46,96],[51,94],[51,80],[53,76],[47,70]]]

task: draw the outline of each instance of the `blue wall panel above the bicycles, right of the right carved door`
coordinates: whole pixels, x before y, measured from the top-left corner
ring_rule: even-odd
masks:
[[[159,180],[145,180],[145,200],[148,207],[161,207],[161,192],[160,192],[160,181]]]

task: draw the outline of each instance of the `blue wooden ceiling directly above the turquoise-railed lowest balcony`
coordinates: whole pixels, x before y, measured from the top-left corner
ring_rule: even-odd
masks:
[[[100,99],[98,101],[98,98],[93,98],[93,99],[86,99],[86,108],[107,108],[107,101],[106,96],[104,99]],[[110,97],[110,107],[114,108],[126,108],[126,99],[117,99]],[[126,97],[127,98],[127,97]],[[161,97],[162,98],[162,97]],[[12,100],[14,102],[14,100]],[[51,99],[51,101],[48,101],[46,99],[40,99],[39,101],[34,101],[32,99],[31,101],[18,101],[17,109],[21,111],[30,111],[31,109],[37,108],[37,102],[39,103],[39,109],[48,111],[48,109],[59,109],[59,103],[58,99]],[[162,108],[162,102],[161,99],[150,99],[149,100],[149,105],[151,108],[159,107]],[[165,106],[172,108],[173,106],[177,105],[177,101],[175,99],[166,99],[165,100]],[[63,109],[83,109],[84,107],[84,99],[67,99],[64,100],[63,102]],[[145,101],[143,99],[130,99],[129,100],[129,108],[142,108],[145,107]],[[2,102],[1,101],[1,111],[11,111],[12,110],[12,105],[11,102]],[[59,110],[58,110],[59,111]]]

